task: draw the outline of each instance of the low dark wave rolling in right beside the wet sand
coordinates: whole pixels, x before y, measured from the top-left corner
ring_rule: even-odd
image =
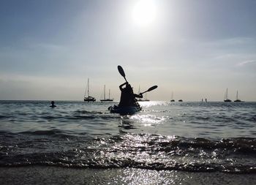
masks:
[[[47,155],[44,155],[47,156]],[[15,156],[18,161],[15,162],[0,162],[0,167],[24,167],[31,165],[43,165],[43,166],[56,166],[56,167],[72,167],[72,168],[93,168],[93,169],[107,169],[107,168],[139,168],[147,170],[178,170],[187,171],[193,173],[200,172],[222,172],[222,173],[238,173],[238,174],[255,174],[255,165],[219,165],[216,163],[178,163],[175,160],[173,162],[138,162],[132,159],[87,159],[80,160],[79,162],[68,161],[68,156],[54,154],[54,158],[44,159],[43,156],[33,154],[33,159],[29,159],[28,156]],[[0,155],[0,157],[2,157]],[[62,157],[62,158],[59,158]],[[41,158],[37,160],[36,158]]]

